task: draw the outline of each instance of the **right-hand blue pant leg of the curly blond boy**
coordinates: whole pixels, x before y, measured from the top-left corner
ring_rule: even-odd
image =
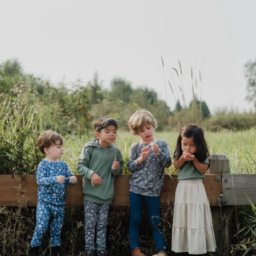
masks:
[[[146,203],[146,209],[148,210],[148,218],[150,220],[154,242],[156,243],[156,251],[166,251],[166,245],[164,242],[164,235],[162,233],[162,225],[160,218],[159,196],[144,196],[144,200]]]

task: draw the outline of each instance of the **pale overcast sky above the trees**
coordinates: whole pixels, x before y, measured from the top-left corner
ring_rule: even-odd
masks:
[[[255,0],[1,0],[0,61],[16,58],[55,84],[87,82],[96,71],[104,88],[124,78],[171,109],[183,102],[179,87],[190,102],[193,84],[212,113],[249,111],[244,65],[256,59],[255,10]]]

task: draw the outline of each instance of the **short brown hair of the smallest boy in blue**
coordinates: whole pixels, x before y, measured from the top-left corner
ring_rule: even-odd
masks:
[[[57,132],[52,132],[52,130],[46,130],[38,138],[38,148],[43,154],[45,154],[44,148],[49,148],[52,144],[56,144],[57,141],[63,145],[64,139],[62,135]]]

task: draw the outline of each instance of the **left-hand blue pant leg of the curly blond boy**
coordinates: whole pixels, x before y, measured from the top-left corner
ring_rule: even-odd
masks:
[[[140,223],[142,222],[142,202],[143,196],[141,194],[130,192],[130,250],[140,247],[138,238],[140,236]]]

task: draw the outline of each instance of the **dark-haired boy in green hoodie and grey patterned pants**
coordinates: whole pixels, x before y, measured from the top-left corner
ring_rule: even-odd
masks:
[[[110,116],[102,116],[95,120],[94,129],[97,138],[86,143],[78,161],[78,172],[84,177],[85,256],[105,256],[114,176],[122,174],[124,161],[119,148],[112,144],[118,132],[116,121]]]

